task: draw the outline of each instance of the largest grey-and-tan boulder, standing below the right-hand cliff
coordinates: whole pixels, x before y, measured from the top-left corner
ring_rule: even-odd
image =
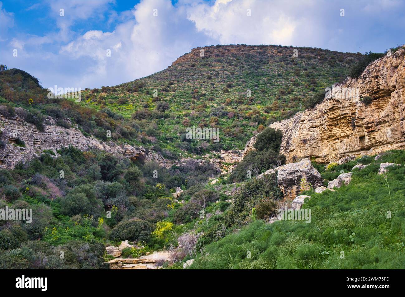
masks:
[[[312,166],[308,158],[278,168],[277,185],[284,198],[293,200],[300,192],[322,185],[320,173]]]

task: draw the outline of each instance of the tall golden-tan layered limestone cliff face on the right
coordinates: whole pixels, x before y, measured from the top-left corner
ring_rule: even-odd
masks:
[[[287,163],[303,158],[327,163],[405,149],[404,56],[401,48],[374,61],[359,78],[337,85],[315,108],[271,124],[283,132],[280,153]],[[369,105],[360,101],[366,96],[373,98]],[[254,150],[255,141],[249,141],[244,154]]]

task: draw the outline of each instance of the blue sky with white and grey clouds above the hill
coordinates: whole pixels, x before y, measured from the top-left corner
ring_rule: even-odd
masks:
[[[197,46],[366,53],[404,43],[402,0],[0,0],[0,63],[45,88],[132,81]]]

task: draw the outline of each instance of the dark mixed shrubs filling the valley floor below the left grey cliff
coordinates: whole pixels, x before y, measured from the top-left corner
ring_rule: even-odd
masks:
[[[106,268],[105,244],[128,239],[153,250],[175,244],[153,230],[173,217],[190,220],[187,209],[202,209],[207,190],[200,185],[218,173],[208,162],[165,169],[74,147],[58,153],[0,170],[0,208],[33,212],[32,223],[0,220],[0,268]],[[171,195],[177,186],[194,188],[185,215]]]

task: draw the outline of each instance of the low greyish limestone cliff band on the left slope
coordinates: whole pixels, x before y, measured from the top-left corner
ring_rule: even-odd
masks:
[[[132,160],[143,158],[147,161],[154,160],[161,166],[172,166],[171,161],[164,159],[162,155],[147,152],[143,147],[117,145],[112,141],[107,143],[94,137],[85,137],[76,128],[66,129],[57,126],[52,119],[47,119],[44,126],[44,131],[40,132],[33,124],[18,117],[14,119],[0,117],[0,140],[6,143],[4,149],[0,150],[0,168],[12,168],[19,161],[26,162],[39,156],[43,150],[55,152],[70,144],[83,151],[103,150]],[[24,141],[25,147],[17,146],[18,140]]]

